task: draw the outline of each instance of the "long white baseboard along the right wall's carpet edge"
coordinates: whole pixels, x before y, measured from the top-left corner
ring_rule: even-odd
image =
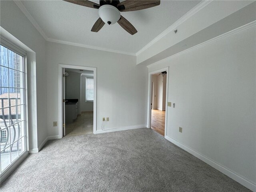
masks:
[[[212,166],[213,168],[217,169],[218,171],[224,173],[225,175],[227,175],[228,177],[234,179],[236,182],[242,184],[243,186],[245,186],[246,188],[256,192],[256,184],[254,184],[253,182],[247,180],[246,178],[238,175],[237,173],[229,170],[228,168],[218,164],[217,162],[214,162],[213,160],[207,158],[206,156],[192,150],[191,148],[189,148],[188,146],[181,144],[180,142],[174,140],[173,138],[170,138],[169,136],[165,136],[165,138],[172,142],[173,144],[175,144],[176,146],[184,149],[185,151],[189,152],[190,154],[194,155],[195,157],[197,157],[198,159],[202,160],[203,162],[207,163],[208,165]]]

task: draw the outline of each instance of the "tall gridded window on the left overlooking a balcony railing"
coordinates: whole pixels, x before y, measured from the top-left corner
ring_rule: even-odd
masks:
[[[24,55],[13,51],[13,48],[10,50],[4,43],[3,46],[2,42],[0,45],[1,175],[26,152]]]

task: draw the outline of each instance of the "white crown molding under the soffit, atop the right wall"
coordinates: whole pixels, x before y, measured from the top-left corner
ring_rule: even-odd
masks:
[[[233,30],[231,30],[231,31],[229,31],[229,32],[226,32],[226,33],[224,33],[224,34],[221,34],[221,35],[219,35],[219,36],[216,36],[216,37],[214,37],[214,38],[212,38],[212,39],[210,39],[210,40],[207,40],[207,41],[205,41],[205,42],[202,42],[202,43],[200,43],[200,44],[198,44],[198,45],[195,45],[195,46],[193,46],[193,47],[191,47],[191,48],[188,48],[188,49],[186,49],[186,50],[184,50],[184,51],[178,52],[178,53],[176,53],[176,54],[174,54],[174,55],[172,55],[172,56],[169,56],[169,57],[166,57],[166,58],[164,58],[164,59],[162,59],[162,60],[159,60],[159,61],[157,61],[157,62],[154,62],[154,63],[148,65],[147,67],[150,68],[150,67],[155,66],[156,64],[159,64],[160,62],[163,62],[163,61],[168,60],[168,59],[170,59],[170,58],[173,58],[173,57],[182,55],[182,54],[184,54],[184,53],[186,53],[186,52],[190,52],[190,51],[192,51],[192,50],[201,48],[201,47],[206,46],[206,45],[208,45],[208,44],[212,44],[212,43],[217,42],[217,41],[220,41],[220,40],[222,40],[222,39],[224,39],[224,38],[228,38],[228,37],[230,37],[230,36],[232,36],[232,35],[238,34],[238,33],[240,33],[240,32],[243,32],[243,31],[245,31],[245,30],[248,30],[248,29],[251,29],[251,28],[255,28],[255,27],[256,27],[256,20],[254,20],[253,22],[250,22],[250,23],[248,23],[248,24],[245,24],[245,25],[243,25],[243,26],[240,26],[240,27],[238,27],[238,28],[236,28],[236,29],[233,29]]]

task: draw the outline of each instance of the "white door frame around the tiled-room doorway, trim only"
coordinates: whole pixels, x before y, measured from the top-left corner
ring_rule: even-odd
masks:
[[[63,101],[62,101],[62,70],[63,68],[70,69],[82,69],[82,70],[91,70],[93,71],[93,79],[94,79],[94,101],[93,101],[93,134],[96,134],[96,123],[97,123],[97,68],[96,67],[86,67],[79,65],[68,65],[68,64],[59,64],[58,65],[58,138],[63,137]]]

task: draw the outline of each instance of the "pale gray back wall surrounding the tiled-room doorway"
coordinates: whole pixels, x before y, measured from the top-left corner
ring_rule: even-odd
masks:
[[[97,68],[97,130],[102,117],[105,128],[146,124],[147,68],[136,66],[136,57],[77,46],[46,43],[48,136],[59,134],[52,126],[58,121],[58,64]]]

